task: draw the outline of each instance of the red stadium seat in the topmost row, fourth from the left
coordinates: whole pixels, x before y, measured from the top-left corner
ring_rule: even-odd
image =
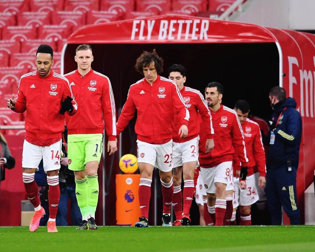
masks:
[[[100,10],[113,13],[134,11],[135,0],[101,0]]]

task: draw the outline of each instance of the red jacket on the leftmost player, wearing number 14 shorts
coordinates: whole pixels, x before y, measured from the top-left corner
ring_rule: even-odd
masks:
[[[24,74],[20,78],[15,112],[26,111],[25,136],[33,139],[61,138],[65,129],[65,115],[60,115],[61,102],[72,97],[73,115],[77,112],[77,103],[71,92],[68,80],[54,73],[43,78],[37,71]]]

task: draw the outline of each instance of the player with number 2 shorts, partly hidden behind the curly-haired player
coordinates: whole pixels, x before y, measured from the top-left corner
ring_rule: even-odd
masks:
[[[213,134],[211,114],[207,103],[203,99],[203,95],[196,89],[184,86],[186,82],[186,69],[182,65],[172,65],[168,69],[169,79],[174,81],[180,90],[186,103],[186,107],[190,115],[190,123],[188,126],[189,134],[186,138],[180,138],[177,129],[180,127],[179,114],[174,111],[173,131],[173,183],[174,198],[173,208],[175,211],[176,221],[174,226],[190,224],[189,210],[192,204],[194,193],[194,172],[199,166],[198,163],[198,142],[199,142],[199,114],[206,125],[206,152],[213,150]],[[181,192],[181,176],[183,173],[184,190]],[[184,202],[183,202],[184,199]]]

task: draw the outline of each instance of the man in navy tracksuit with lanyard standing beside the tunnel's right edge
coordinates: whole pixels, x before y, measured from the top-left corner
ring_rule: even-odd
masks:
[[[268,135],[266,194],[272,225],[281,225],[282,210],[291,225],[300,224],[296,197],[296,171],[302,135],[302,120],[296,101],[286,98],[285,90],[273,87],[269,100],[274,110]]]

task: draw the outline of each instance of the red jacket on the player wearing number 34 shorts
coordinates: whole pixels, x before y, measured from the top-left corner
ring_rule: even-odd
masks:
[[[248,175],[254,174],[254,167],[257,166],[259,171],[259,176],[266,176],[266,159],[265,159],[265,150],[261,139],[261,132],[259,129],[258,123],[255,123],[248,118],[242,124],[242,129],[244,132],[244,140],[246,147],[246,154],[248,157]],[[237,155],[234,153],[233,158],[233,167],[234,170],[240,170],[240,160]],[[235,173],[234,173],[235,175]]]

